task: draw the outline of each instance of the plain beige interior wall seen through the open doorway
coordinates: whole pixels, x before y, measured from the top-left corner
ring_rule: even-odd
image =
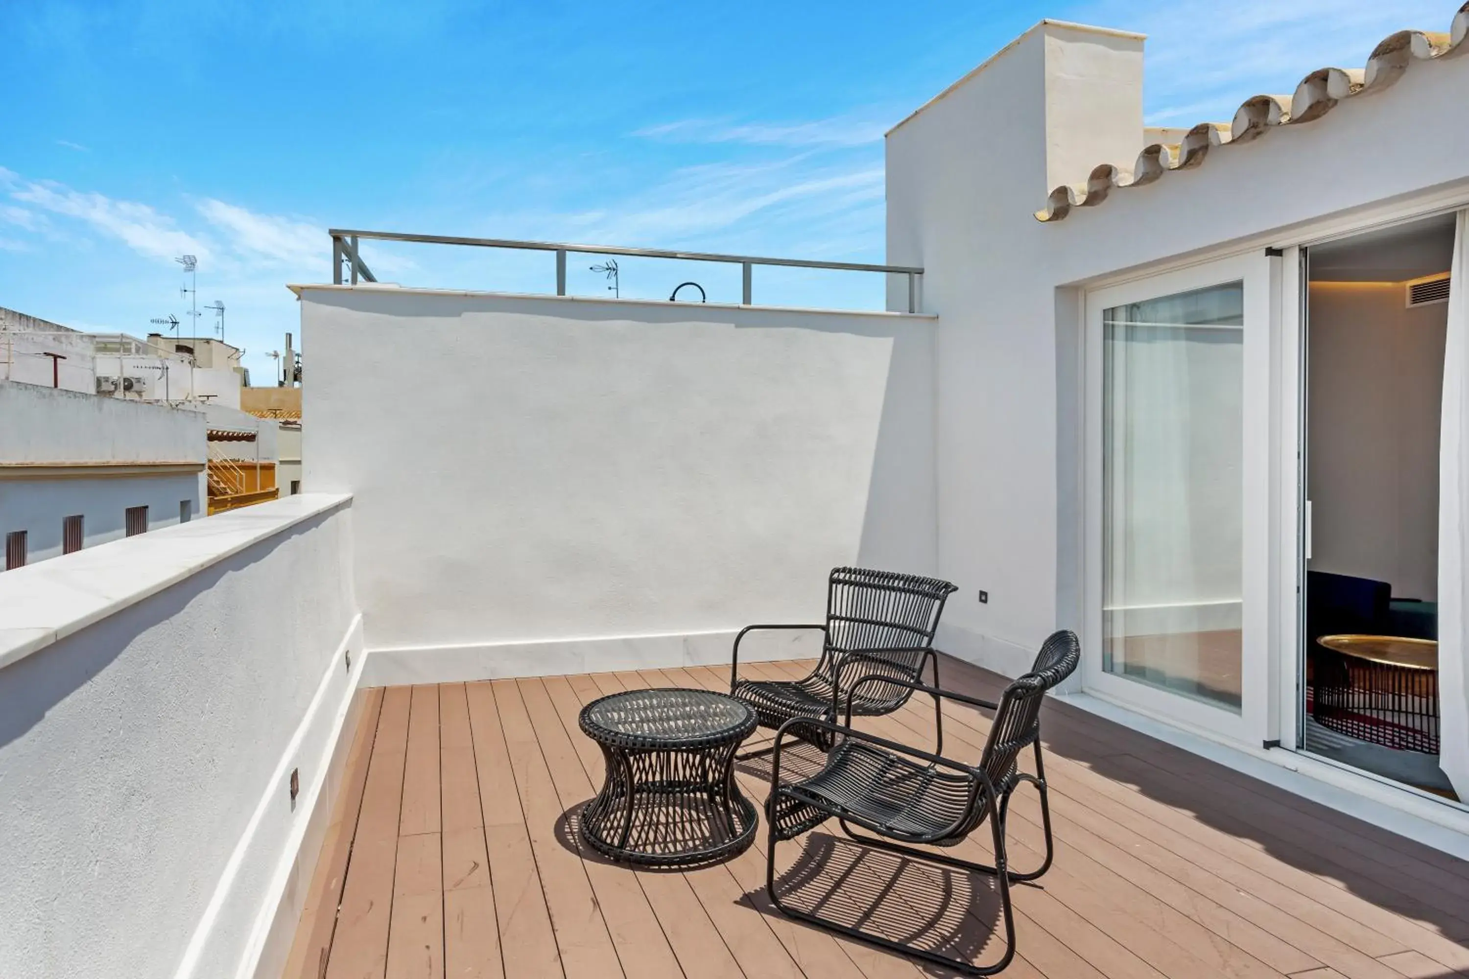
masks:
[[[1438,597],[1447,311],[1406,308],[1401,283],[1312,283],[1312,569]]]

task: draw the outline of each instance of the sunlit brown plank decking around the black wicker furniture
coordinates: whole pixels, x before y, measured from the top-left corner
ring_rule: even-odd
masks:
[[[765,678],[806,668],[740,666]],[[764,826],[740,857],[682,873],[579,845],[577,809],[602,779],[582,706],[727,680],[652,669],[370,691],[286,976],[943,975],[774,911]],[[950,659],[943,681],[989,699],[1002,685]],[[931,746],[931,703],[862,727]],[[986,729],[980,712],[946,707],[945,753],[977,759]],[[1040,887],[1014,891],[1006,976],[1469,976],[1469,865],[1064,703],[1047,703],[1042,734],[1056,863]],[[758,804],[768,759],[739,778]],[[1033,794],[1017,797],[1009,837],[1012,865],[1033,866]],[[984,860],[987,838],[961,851]],[[999,954],[989,881],[862,850],[831,825],[777,856],[798,903],[946,954]]]

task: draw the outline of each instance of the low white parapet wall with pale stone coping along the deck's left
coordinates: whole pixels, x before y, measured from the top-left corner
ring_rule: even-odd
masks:
[[[0,976],[284,960],[361,668],[350,506],[292,496],[0,575]]]

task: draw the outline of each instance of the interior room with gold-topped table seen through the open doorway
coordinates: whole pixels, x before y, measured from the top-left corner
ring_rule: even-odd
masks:
[[[1307,251],[1304,749],[1440,796],[1451,214]]]

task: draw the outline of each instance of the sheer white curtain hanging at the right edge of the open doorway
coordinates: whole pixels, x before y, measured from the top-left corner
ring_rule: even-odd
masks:
[[[1438,461],[1438,766],[1469,801],[1469,210],[1456,228]]]

